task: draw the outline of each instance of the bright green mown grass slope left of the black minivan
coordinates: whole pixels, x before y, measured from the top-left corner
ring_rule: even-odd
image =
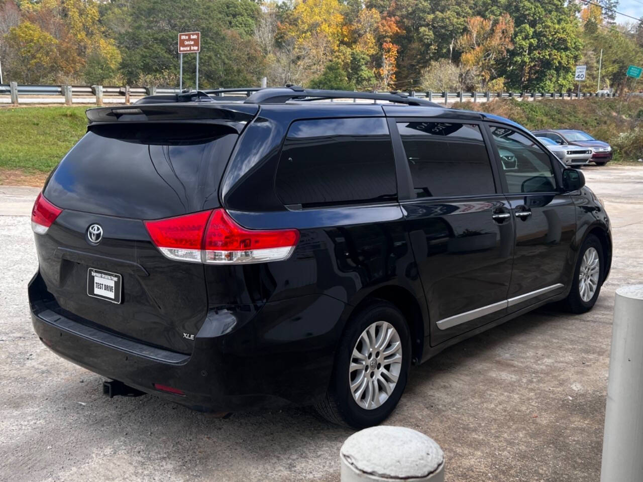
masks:
[[[41,185],[86,132],[86,109],[0,109],[0,184]]]

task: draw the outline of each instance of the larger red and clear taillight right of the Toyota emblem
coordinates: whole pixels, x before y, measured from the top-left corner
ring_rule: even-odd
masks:
[[[152,242],[167,258],[208,264],[285,260],[299,240],[296,229],[242,228],[223,209],[145,221]]]

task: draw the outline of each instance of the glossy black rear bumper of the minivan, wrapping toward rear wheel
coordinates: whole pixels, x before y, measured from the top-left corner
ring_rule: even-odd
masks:
[[[29,284],[29,298],[36,334],[61,357],[146,393],[217,412],[311,404],[321,397],[330,380],[345,307],[325,295],[275,301],[228,332],[221,327],[230,326],[233,315],[213,311],[195,336],[194,352],[186,355],[66,316],[39,274]],[[329,323],[333,313],[336,321]],[[321,326],[319,314],[326,317]],[[185,395],[158,391],[154,384]]]

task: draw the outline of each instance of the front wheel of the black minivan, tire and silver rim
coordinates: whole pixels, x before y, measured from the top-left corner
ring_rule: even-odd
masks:
[[[572,289],[565,300],[572,313],[584,313],[592,309],[601,293],[603,281],[603,252],[599,238],[585,238],[572,278]]]

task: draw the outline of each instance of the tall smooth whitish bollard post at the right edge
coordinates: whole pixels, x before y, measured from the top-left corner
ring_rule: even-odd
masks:
[[[616,290],[601,482],[643,480],[643,285]]]

